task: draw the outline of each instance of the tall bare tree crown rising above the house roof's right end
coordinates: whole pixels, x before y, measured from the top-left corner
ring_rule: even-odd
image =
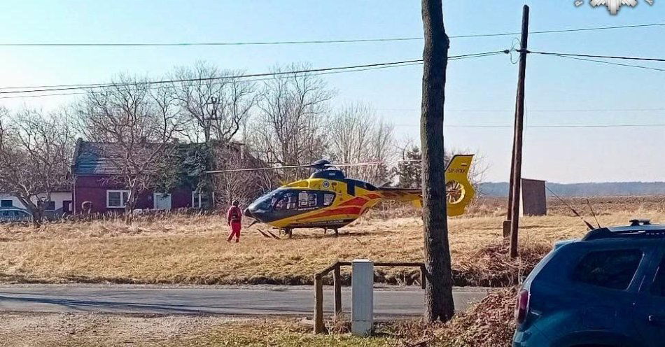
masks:
[[[193,142],[229,143],[256,104],[254,83],[238,78],[243,71],[220,70],[207,62],[172,73],[174,94],[189,120],[185,134]],[[213,114],[214,113],[214,114]]]

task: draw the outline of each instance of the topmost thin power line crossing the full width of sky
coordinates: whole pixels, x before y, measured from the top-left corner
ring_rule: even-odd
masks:
[[[529,31],[528,34],[561,34],[577,31],[598,31],[612,29],[634,29],[643,27],[661,27],[665,23],[619,25],[612,27],[585,27],[571,29],[553,29],[542,31]],[[492,34],[466,34],[452,35],[449,38],[480,38],[493,36],[514,36],[519,32],[503,32]],[[353,38],[337,40],[309,40],[309,41],[250,41],[250,42],[179,42],[179,43],[0,43],[0,47],[187,47],[187,46],[228,46],[228,45],[309,45],[324,43],[369,43],[390,41],[421,41],[422,37],[394,37],[394,38]]]

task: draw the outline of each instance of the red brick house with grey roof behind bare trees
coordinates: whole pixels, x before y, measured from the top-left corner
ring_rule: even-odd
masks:
[[[174,146],[187,146],[178,145]],[[100,155],[103,150],[104,155]],[[78,140],[71,166],[73,178],[73,213],[83,211],[82,204],[89,201],[92,213],[125,211],[130,190],[111,178],[120,174],[114,160],[122,160],[122,150],[114,143],[92,143]],[[193,178],[196,179],[196,178]],[[139,194],[136,208],[170,211],[179,208],[205,208],[208,194],[196,192],[195,184],[180,184],[168,192],[146,190]]]

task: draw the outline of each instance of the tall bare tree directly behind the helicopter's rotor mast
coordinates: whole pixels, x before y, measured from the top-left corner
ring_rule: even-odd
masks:
[[[290,64],[273,72],[299,71],[307,65]],[[325,153],[328,136],[325,116],[333,92],[311,73],[286,73],[265,81],[251,122],[248,142],[258,158],[278,164],[310,164]],[[302,172],[285,172],[286,179]]]

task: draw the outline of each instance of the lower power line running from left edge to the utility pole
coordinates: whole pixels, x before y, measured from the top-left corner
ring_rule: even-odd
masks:
[[[472,53],[467,55],[456,55],[449,57],[450,60],[456,59],[467,59],[474,57],[488,57],[490,55],[498,55],[501,53],[509,53],[510,50],[497,50],[492,52],[481,52],[481,53]],[[284,76],[284,75],[296,75],[298,73],[316,73],[316,72],[325,72],[325,71],[341,71],[348,72],[350,70],[360,70],[360,69],[371,69],[371,68],[384,68],[384,67],[393,67],[393,66],[403,66],[405,64],[422,64],[422,59],[412,59],[404,60],[400,62],[385,62],[385,63],[375,63],[375,64],[364,64],[364,65],[353,65],[353,66],[335,66],[321,69],[306,69],[300,71],[277,71],[270,73],[251,73],[243,74],[237,76],[218,76],[218,77],[209,77],[209,78],[188,78],[180,80],[153,80],[145,82],[131,82],[131,83],[92,83],[92,84],[76,84],[76,85],[41,85],[36,87],[3,87],[0,90],[7,89],[22,89],[22,90],[9,90],[2,91],[0,94],[20,94],[20,93],[32,93],[32,92],[57,92],[62,90],[85,90],[99,87],[118,87],[118,86],[127,86],[127,85],[162,85],[165,83],[188,83],[188,82],[203,82],[207,80],[228,80],[232,78],[251,78],[251,77],[265,77],[265,76]],[[27,90],[27,88],[38,88]]]

